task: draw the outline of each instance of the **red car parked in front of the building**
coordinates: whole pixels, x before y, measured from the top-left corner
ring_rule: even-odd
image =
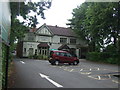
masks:
[[[79,59],[77,57],[71,55],[67,51],[50,51],[49,62],[52,65],[59,65],[59,63],[69,63],[73,65],[77,65],[79,63]]]

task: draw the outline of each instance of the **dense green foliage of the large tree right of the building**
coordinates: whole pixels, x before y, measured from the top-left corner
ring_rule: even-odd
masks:
[[[113,2],[85,2],[73,9],[73,17],[68,25],[80,39],[87,42],[90,51],[100,52],[110,43],[118,48],[119,6],[120,3]]]

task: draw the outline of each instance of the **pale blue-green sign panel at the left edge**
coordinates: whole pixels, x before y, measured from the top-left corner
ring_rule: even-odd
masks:
[[[0,2],[0,38],[9,44],[11,13],[9,2]]]

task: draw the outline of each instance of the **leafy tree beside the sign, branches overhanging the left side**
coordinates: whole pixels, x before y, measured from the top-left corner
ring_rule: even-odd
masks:
[[[45,19],[44,10],[51,7],[51,1],[42,1],[42,2],[10,2],[11,9],[11,34],[10,34],[10,46],[14,45],[16,40],[21,39],[24,36],[24,33],[28,31],[29,28],[35,28],[38,24],[37,15],[40,15],[41,18]],[[34,16],[29,16],[30,12],[34,12]],[[17,19],[17,16],[22,16],[26,22],[20,23]]]

